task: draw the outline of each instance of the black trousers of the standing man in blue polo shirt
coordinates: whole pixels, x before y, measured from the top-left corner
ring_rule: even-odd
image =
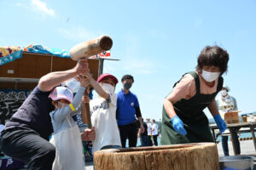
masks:
[[[137,146],[137,131],[138,129],[134,123],[119,126],[122,148],[125,148],[126,139],[129,139],[129,148]]]

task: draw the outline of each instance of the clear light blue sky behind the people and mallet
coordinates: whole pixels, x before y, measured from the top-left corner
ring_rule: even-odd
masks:
[[[109,35],[112,58],[120,60],[105,61],[104,72],[119,80],[131,74],[143,117],[159,120],[172,85],[195,70],[202,48],[217,44],[230,54],[230,95],[248,113],[256,111],[255,9],[255,0],[0,0],[0,46],[69,50]]]

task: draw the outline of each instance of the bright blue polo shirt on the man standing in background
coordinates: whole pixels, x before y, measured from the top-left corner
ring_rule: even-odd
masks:
[[[117,94],[117,122],[118,125],[127,125],[136,120],[136,110],[139,107],[137,96],[132,94],[125,94],[123,89]]]

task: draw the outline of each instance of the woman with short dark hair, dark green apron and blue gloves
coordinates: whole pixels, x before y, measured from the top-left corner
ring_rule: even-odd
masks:
[[[196,71],[183,75],[174,84],[163,107],[162,144],[213,142],[207,107],[215,122],[224,132],[226,124],[219,116],[215,96],[223,87],[229,54],[218,46],[203,48],[197,59]]]

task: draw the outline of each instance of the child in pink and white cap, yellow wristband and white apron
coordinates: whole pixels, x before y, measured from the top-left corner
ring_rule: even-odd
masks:
[[[50,117],[54,133],[49,142],[55,145],[53,170],[84,170],[82,139],[77,123],[73,120],[76,108],[81,103],[84,87],[80,87],[73,99],[73,92],[65,87],[56,87],[50,94],[55,111]]]

